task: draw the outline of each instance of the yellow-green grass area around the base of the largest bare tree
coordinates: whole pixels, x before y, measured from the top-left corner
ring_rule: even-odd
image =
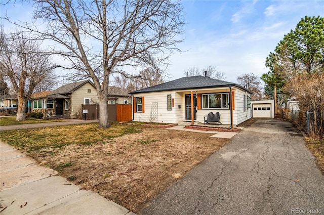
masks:
[[[141,127],[112,123],[108,130],[98,128],[98,123],[39,127],[1,132],[1,139],[25,152],[52,150],[70,144],[91,145],[126,134],[141,132]]]

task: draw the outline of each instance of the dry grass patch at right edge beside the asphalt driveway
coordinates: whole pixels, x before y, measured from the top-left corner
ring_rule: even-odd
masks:
[[[316,164],[324,175],[324,139],[319,137],[305,137],[307,148],[313,153]]]

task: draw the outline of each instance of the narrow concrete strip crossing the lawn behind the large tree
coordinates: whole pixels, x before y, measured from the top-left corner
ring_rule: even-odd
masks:
[[[50,126],[68,125],[68,124],[84,124],[84,123],[93,123],[93,122],[99,122],[99,119],[94,119],[94,120],[70,119],[70,120],[60,121],[60,122],[2,125],[2,126],[0,126],[0,131],[23,129],[23,128],[33,128],[33,127],[50,127]]]

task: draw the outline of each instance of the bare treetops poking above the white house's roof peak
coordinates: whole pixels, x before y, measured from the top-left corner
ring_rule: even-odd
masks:
[[[206,76],[208,76],[208,77],[218,79],[218,80],[226,79],[224,72],[217,71],[215,65],[205,66],[203,69],[199,69],[199,67],[191,67],[188,70],[184,71],[184,75],[185,76],[187,76],[187,75],[188,76],[197,76],[197,75],[205,76],[205,72],[206,72]]]

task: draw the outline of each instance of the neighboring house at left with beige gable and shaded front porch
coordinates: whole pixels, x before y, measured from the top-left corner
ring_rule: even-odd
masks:
[[[42,112],[45,117],[82,114],[82,104],[98,103],[94,84],[84,80],[64,84],[54,91],[44,91],[31,95],[31,112]]]

